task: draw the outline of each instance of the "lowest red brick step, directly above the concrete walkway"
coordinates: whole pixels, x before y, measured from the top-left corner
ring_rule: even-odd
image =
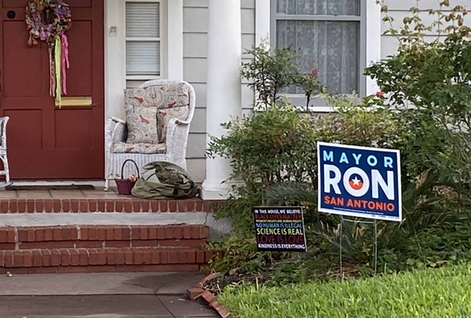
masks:
[[[215,252],[198,247],[117,247],[1,251],[0,274],[189,272]]]

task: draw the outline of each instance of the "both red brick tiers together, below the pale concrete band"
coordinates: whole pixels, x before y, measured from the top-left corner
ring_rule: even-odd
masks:
[[[0,273],[197,271],[207,225],[0,227]]]

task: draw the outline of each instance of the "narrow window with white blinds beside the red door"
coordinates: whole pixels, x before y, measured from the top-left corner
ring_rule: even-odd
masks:
[[[126,0],[126,87],[162,76],[163,1]]]

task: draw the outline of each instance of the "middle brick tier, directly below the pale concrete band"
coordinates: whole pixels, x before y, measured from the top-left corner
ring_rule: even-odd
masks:
[[[0,250],[201,247],[207,225],[66,225],[0,227]]]

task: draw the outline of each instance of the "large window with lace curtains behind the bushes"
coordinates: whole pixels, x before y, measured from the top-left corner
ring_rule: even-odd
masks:
[[[305,73],[317,69],[334,93],[365,93],[365,0],[272,1],[271,39],[291,46]],[[301,93],[290,88],[285,93]]]

